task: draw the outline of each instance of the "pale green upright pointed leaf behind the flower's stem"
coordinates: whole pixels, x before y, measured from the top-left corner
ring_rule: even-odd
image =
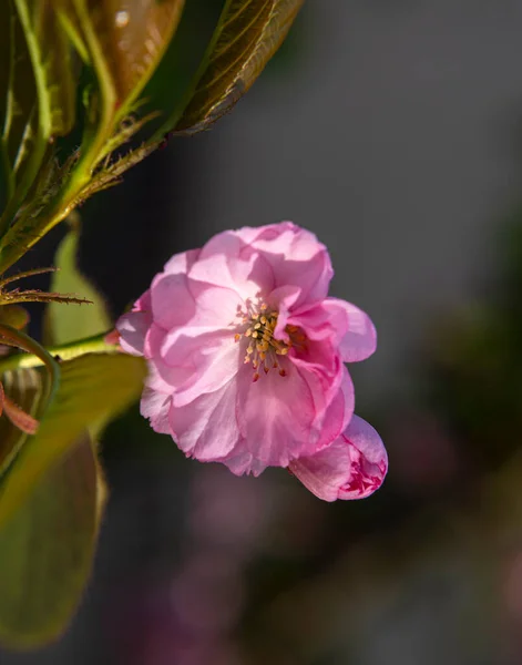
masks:
[[[54,258],[59,270],[53,274],[50,290],[92,300],[93,305],[50,303],[45,308],[45,344],[62,345],[74,339],[108,331],[111,317],[103,296],[85,279],[76,266],[80,227],[73,227],[61,242]]]

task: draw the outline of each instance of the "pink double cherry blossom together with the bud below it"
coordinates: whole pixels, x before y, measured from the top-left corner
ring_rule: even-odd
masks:
[[[354,416],[345,362],[368,358],[368,316],[329,298],[316,236],[283,222],[227,231],[176,254],[116,324],[150,374],[142,415],[187,457],[258,475],[288,467],[327,501],[362,498],[387,471]]]

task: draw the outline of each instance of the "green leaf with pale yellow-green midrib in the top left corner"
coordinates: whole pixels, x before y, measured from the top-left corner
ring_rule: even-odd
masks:
[[[2,232],[24,203],[42,164],[53,158],[54,137],[71,131],[75,109],[72,48],[53,3],[13,0],[12,4],[2,134],[11,195],[0,221]]]

